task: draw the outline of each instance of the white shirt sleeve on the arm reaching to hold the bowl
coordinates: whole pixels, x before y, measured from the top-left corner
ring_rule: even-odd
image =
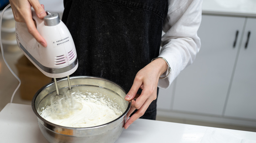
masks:
[[[202,0],[169,0],[167,17],[163,25],[159,57],[164,57],[171,67],[158,87],[168,88],[179,73],[190,65],[201,47],[197,35],[202,18]],[[163,73],[161,77],[168,74]]]

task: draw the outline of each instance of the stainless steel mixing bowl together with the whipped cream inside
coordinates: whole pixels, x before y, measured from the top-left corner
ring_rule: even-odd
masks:
[[[124,129],[131,107],[124,99],[126,92],[104,78],[73,76],[70,81],[72,88],[80,93],[73,96],[74,110],[65,103],[70,100],[61,101],[68,108],[51,103],[53,97],[59,96],[53,82],[39,89],[32,99],[32,109],[44,137],[50,143],[114,143]],[[60,95],[65,95],[67,78],[59,79],[57,85]],[[66,110],[69,108],[72,110]]]

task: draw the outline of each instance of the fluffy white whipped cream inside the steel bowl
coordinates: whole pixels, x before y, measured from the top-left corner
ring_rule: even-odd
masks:
[[[58,109],[54,105],[47,106],[40,116],[49,122],[65,127],[85,128],[111,122],[122,115],[110,99],[97,96],[97,93],[77,94],[73,97],[73,106],[69,112]]]

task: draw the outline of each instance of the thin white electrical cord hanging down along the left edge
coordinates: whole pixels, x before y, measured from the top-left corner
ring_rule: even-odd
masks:
[[[11,73],[16,77],[16,79],[19,81],[19,85],[16,87],[16,89],[14,90],[12,96],[11,96],[11,103],[12,103],[12,100],[13,100],[13,97],[16,93],[16,91],[19,89],[20,87],[20,84],[21,84],[21,81],[19,79],[19,77],[11,70],[11,67],[8,65],[6,59],[5,59],[5,56],[4,56],[4,48],[3,48],[3,44],[2,44],[2,37],[1,37],[1,28],[2,28],[2,20],[3,20],[3,15],[4,15],[4,12],[7,8],[9,8],[11,5],[9,4],[8,6],[6,6],[3,11],[2,11],[2,14],[1,14],[1,17],[0,17],[0,46],[1,46],[1,51],[2,51],[2,56],[3,56],[3,59],[4,59],[4,62],[5,64],[7,65],[8,69],[11,71]]]

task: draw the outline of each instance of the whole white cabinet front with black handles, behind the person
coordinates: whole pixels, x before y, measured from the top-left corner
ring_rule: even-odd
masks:
[[[198,35],[194,63],[160,89],[158,115],[256,127],[256,18],[203,15]]]

